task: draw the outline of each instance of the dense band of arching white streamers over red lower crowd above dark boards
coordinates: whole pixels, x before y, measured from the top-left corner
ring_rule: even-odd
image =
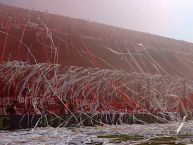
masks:
[[[172,76],[13,61],[0,65],[0,80],[4,98],[10,98],[1,98],[4,108],[17,100],[27,114],[144,113],[179,120],[193,108],[187,104],[192,82]]]

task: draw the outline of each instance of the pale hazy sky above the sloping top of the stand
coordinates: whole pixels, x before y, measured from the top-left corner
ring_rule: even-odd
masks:
[[[193,0],[0,0],[193,42]]]

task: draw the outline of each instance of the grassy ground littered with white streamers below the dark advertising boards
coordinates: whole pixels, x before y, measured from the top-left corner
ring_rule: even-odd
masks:
[[[1,144],[191,144],[193,121],[169,124],[118,125],[81,128],[34,128],[1,131]]]

